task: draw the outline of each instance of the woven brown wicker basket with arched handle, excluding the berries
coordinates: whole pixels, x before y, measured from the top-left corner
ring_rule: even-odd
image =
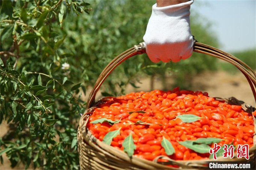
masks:
[[[213,48],[211,46],[195,42],[194,43],[194,51],[199,53],[208,54],[213,57],[220,58],[225,60],[234,66],[236,66],[246,77],[248,80],[255,101],[256,101],[256,74],[255,72],[247,66],[241,60],[235,58],[234,56]],[[94,88],[89,96],[86,111],[81,117],[79,121],[79,127],[77,130],[77,140],[78,140],[78,152],[79,152],[79,162],[81,169],[207,169],[208,164],[207,161],[214,160],[188,160],[188,161],[175,161],[169,159],[168,162],[160,163],[157,162],[157,159],[164,157],[157,157],[154,161],[149,161],[146,159],[137,158],[132,156],[132,158],[128,157],[126,153],[123,151],[117,150],[116,148],[109,146],[105,143],[100,142],[97,138],[95,138],[91,132],[86,128],[86,124],[88,122],[89,115],[93,112],[98,104],[104,103],[108,100],[108,98],[103,98],[97,102],[95,102],[95,96],[97,91],[100,89],[101,84],[105,81],[107,76],[122,62],[126,59],[137,55],[145,53],[144,43],[140,43],[140,45],[135,45],[133,48],[124,51],[116,58],[114,58],[108,66],[101,72],[98,80],[95,83]],[[252,113],[256,109],[248,104],[245,104],[242,101],[237,100],[234,97],[229,99],[217,98],[220,100],[225,100],[229,104],[242,105],[242,108]],[[256,120],[254,119],[254,131],[256,132]],[[255,155],[256,155],[256,135],[254,133],[253,137],[253,147],[249,150],[250,160],[252,161],[252,165],[255,166]],[[222,157],[218,158],[218,161],[245,161],[245,159],[238,159],[236,155],[232,159],[224,159]],[[169,166],[165,166],[164,164],[169,165],[178,165],[180,168],[172,168]]]

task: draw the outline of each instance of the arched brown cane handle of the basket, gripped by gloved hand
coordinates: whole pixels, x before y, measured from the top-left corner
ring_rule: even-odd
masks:
[[[203,54],[208,54],[210,56],[220,58],[222,60],[225,60],[234,66],[236,66],[245,76],[247,79],[248,83],[251,86],[252,93],[256,102],[256,73],[248,66],[246,65],[243,61],[239,60],[238,58],[232,56],[231,54],[228,54],[224,51],[221,51],[219,49],[216,49],[214,47],[211,47],[209,45],[203,44],[203,43],[198,43],[195,41],[194,43],[194,49],[193,51],[203,53]],[[86,104],[86,109],[89,109],[90,107],[93,106],[95,103],[95,96],[97,92],[100,89],[100,86],[102,83],[106,80],[108,75],[112,73],[112,71],[119,66],[121,63],[123,63],[126,59],[135,56],[137,54],[143,54],[146,53],[145,49],[145,43],[140,43],[140,45],[134,45],[133,48],[130,48],[123,53],[119,54],[114,58],[105,68],[104,70],[100,73],[91,93],[90,96],[87,100]]]

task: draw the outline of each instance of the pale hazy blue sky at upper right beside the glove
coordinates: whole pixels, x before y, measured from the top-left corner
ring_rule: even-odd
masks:
[[[220,49],[239,51],[256,48],[255,0],[195,0],[191,5],[204,18],[213,23],[221,43]]]

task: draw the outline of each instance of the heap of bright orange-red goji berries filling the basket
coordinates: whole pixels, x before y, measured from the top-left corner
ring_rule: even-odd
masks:
[[[110,132],[120,129],[120,135],[113,138],[111,145],[124,150],[124,139],[132,134],[136,149],[134,155],[153,160],[166,152],[161,145],[163,137],[171,142],[174,160],[208,159],[209,153],[197,153],[177,141],[216,137],[224,139],[218,144],[253,145],[254,125],[251,113],[244,112],[239,105],[209,97],[207,92],[179,90],[154,90],[137,92],[111,98],[97,106],[90,115],[87,127],[100,141]],[[193,114],[201,119],[184,123],[178,115]],[[118,123],[91,123],[106,118]],[[135,124],[141,121],[148,124]],[[214,143],[210,145],[213,147]]]

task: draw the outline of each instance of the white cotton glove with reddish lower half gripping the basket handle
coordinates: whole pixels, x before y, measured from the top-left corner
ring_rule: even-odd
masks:
[[[152,14],[143,40],[153,62],[178,62],[192,55],[193,37],[190,32],[189,9],[194,0],[152,7]]]

